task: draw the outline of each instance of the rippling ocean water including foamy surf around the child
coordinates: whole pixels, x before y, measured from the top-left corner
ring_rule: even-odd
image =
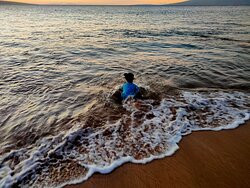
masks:
[[[125,72],[144,100],[112,100]],[[250,7],[0,6],[0,187],[172,155],[247,121],[249,94]]]

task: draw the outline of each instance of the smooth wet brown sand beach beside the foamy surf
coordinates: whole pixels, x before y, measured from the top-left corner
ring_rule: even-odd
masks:
[[[185,136],[171,157],[125,164],[71,188],[250,187],[250,121],[237,129]]]

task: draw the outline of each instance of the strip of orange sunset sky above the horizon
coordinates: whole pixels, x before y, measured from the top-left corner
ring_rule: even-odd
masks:
[[[183,2],[185,0],[13,0],[13,1],[22,3],[33,3],[33,4],[133,5],[133,4],[169,4],[169,3]]]

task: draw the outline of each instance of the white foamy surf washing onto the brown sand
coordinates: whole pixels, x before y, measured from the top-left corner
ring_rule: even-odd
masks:
[[[127,100],[123,104],[127,113],[115,123],[84,129],[75,125],[64,135],[44,139],[35,149],[12,151],[1,159],[0,174],[6,175],[0,186],[79,183],[126,162],[144,164],[170,156],[183,135],[236,128],[250,116],[249,95],[240,92],[184,91],[154,102]],[[12,164],[13,156],[21,158],[18,165]]]

